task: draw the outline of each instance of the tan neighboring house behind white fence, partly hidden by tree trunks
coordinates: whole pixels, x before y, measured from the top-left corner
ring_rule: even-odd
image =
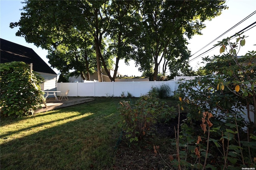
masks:
[[[110,75],[113,76],[114,75],[114,70],[113,69],[108,69],[108,71],[110,72]],[[120,77],[123,75],[121,75],[120,73],[116,73],[116,77]],[[96,80],[98,81],[98,72],[97,72],[97,69],[95,69],[95,73],[93,74],[90,74],[90,80],[93,81],[93,80]],[[106,71],[104,69],[102,69],[102,80],[105,81],[105,82],[110,82],[110,79],[106,73]],[[68,82],[69,83],[76,83],[76,82],[84,82],[84,80],[82,79],[82,77],[79,75],[79,76],[73,76],[73,77],[69,77],[68,78]]]

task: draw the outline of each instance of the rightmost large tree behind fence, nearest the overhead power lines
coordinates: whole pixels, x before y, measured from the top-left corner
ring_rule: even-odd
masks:
[[[220,15],[225,9],[224,0],[220,1],[143,1],[141,10],[144,32],[141,34],[141,43],[138,43],[138,56],[134,58],[141,65],[142,70],[154,67],[154,80],[157,79],[158,66],[164,57],[165,64],[171,61],[166,55],[172,49],[180,51],[173,53],[176,58],[186,56],[189,51],[184,45],[186,39],[194,34],[200,34],[205,20]],[[175,43],[176,39],[180,42]]]

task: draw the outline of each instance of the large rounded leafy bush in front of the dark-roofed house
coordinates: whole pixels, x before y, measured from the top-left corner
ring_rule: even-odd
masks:
[[[24,116],[34,113],[44,94],[39,83],[42,78],[24,62],[1,63],[1,114]],[[36,87],[34,87],[35,83]]]

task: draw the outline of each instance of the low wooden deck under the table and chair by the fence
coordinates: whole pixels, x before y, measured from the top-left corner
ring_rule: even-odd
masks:
[[[68,97],[68,101],[66,101],[63,97],[62,101],[56,101],[54,97],[46,99],[47,108],[44,104],[41,104],[42,108],[36,109],[34,113],[40,113],[45,111],[51,111],[54,109],[59,109],[62,107],[68,107],[72,105],[78,105],[81,103],[86,103],[89,101],[94,101],[94,98],[90,97]]]

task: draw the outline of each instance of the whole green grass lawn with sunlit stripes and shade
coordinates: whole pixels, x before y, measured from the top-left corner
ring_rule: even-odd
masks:
[[[34,116],[1,118],[1,170],[111,168],[121,132],[120,100],[97,98]]]

